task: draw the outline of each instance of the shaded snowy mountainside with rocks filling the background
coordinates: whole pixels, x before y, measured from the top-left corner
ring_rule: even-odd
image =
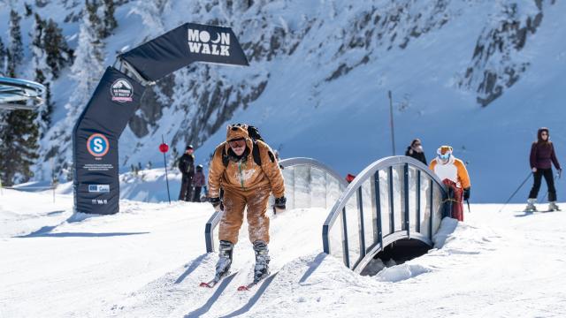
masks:
[[[24,2],[11,3],[21,8]],[[78,16],[82,5],[46,3],[34,10],[60,23]],[[0,8],[0,18],[7,17],[9,5]],[[550,128],[563,158],[565,11],[555,0],[121,4],[119,28],[105,43],[107,64],[120,49],[190,21],[233,27],[250,66],[195,64],[164,79],[120,140],[120,170],[159,163],[161,135],[178,149],[198,145],[197,162],[206,163],[227,123],[249,122],[282,157],[310,156],[342,174],[356,173],[391,155],[391,90],[397,154],[416,137],[429,159],[450,144],[469,163],[472,200],[505,201],[527,176],[536,128]],[[22,23],[26,34],[31,19]],[[71,46],[78,23],[64,27]],[[57,154],[60,167],[70,158],[63,106],[81,105],[69,100],[68,76],[54,87],[54,130],[64,133],[42,140],[42,158]],[[49,169],[38,164],[38,178]],[[557,186],[563,193],[564,185]],[[526,188],[515,201],[524,201]]]

